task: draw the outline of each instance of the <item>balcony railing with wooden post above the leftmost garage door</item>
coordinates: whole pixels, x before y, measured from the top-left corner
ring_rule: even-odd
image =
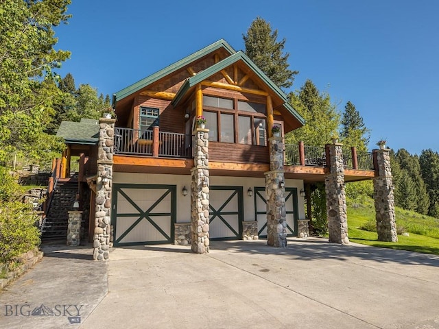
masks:
[[[154,130],[115,128],[115,154],[191,158],[191,135]]]

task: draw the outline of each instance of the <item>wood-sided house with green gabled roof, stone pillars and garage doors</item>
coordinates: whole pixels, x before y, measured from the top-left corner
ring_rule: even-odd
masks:
[[[285,145],[284,134],[305,121],[225,40],[120,90],[113,108],[117,119],[99,120],[99,141],[88,149],[93,161],[82,154],[97,159],[96,175],[80,173],[94,191],[95,259],[108,258],[112,245],[180,243],[197,253],[215,239],[285,246],[286,236],[308,235],[302,195],[311,182],[326,183],[331,241],[348,242],[344,182],[367,179],[377,182],[377,214],[390,206],[386,236],[396,236],[388,152]],[[63,158],[80,144],[69,136]]]

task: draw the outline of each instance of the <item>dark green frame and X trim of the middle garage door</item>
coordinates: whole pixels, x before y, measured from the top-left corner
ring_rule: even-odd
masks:
[[[235,236],[227,236],[227,237],[219,237],[219,238],[212,238],[212,241],[215,240],[235,240],[235,239],[241,239],[241,235],[242,235],[242,221],[244,219],[244,199],[242,196],[242,186],[210,186],[209,188],[211,191],[233,191],[234,192],[230,195],[230,197],[228,197],[228,199],[226,199],[226,201],[219,206],[218,209],[215,209],[212,204],[209,204],[209,208],[210,208],[210,219],[209,219],[209,225],[210,223],[218,218],[220,219],[224,225],[227,226],[227,228],[233,232],[233,234],[235,234]],[[222,211],[224,208],[226,208],[226,206],[228,205],[228,203],[235,197],[237,196],[238,200],[238,210],[237,211]],[[237,215],[237,219],[238,219],[238,231],[236,232],[236,230],[234,230],[232,228],[232,226],[230,226],[230,224],[227,222],[226,219],[224,219],[224,217],[222,217],[222,215]]]

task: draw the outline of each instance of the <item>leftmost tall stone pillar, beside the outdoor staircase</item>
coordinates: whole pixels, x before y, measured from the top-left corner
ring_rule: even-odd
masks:
[[[115,119],[99,119],[93,259],[108,259],[111,232],[111,187]]]

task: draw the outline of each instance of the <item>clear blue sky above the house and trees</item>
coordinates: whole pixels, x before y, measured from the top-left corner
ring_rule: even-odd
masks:
[[[439,151],[439,1],[407,0],[72,0],[57,49],[58,71],[110,94],[224,38],[261,16],[286,38],[292,90],[311,79],[342,111],[355,104],[371,130],[370,149]]]

